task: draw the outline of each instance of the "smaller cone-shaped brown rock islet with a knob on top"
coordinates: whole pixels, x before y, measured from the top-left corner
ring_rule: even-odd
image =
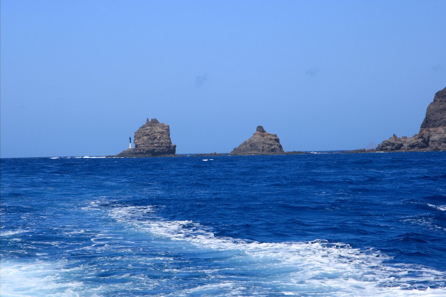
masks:
[[[261,126],[247,141],[236,147],[230,154],[284,154],[276,134],[270,134]]]

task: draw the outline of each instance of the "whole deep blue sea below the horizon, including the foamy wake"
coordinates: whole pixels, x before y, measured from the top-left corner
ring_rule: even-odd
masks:
[[[1,159],[1,296],[446,296],[446,152]]]

